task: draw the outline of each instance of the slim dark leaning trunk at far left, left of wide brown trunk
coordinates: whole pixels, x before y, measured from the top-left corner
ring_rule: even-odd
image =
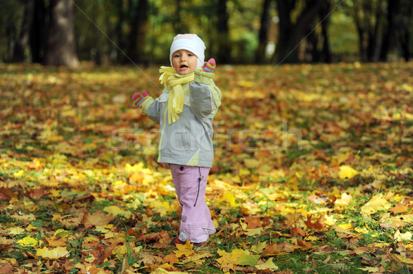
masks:
[[[19,39],[14,45],[13,62],[23,62],[25,59],[24,52],[29,42],[30,29],[34,18],[34,0],[28,0],[25,3],[23,23]]]

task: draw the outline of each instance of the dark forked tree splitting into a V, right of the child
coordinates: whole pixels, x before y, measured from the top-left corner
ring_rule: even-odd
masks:
[[[298,62],[299,44],[306,35],[308,25],[315,19],[328,0],[277,0],[279,16],[279,37],[273,60],[277,62]],[[301,12],[293,21],[293,12]]]

